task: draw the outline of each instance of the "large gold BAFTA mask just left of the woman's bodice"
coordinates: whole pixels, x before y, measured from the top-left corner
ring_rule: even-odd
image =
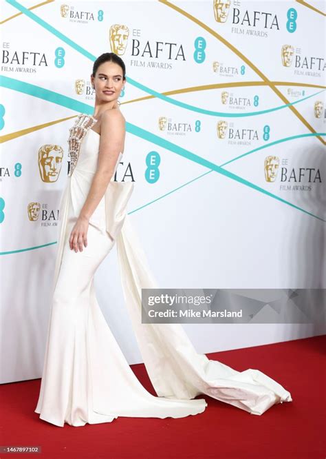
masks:
[[[63,149],[59,145],[42,145],[39,149],[39,172],[46,183],[56,182],[61,171]]]

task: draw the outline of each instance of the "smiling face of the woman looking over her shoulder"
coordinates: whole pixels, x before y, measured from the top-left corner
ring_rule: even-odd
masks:
[[[95,77],[91,76],[91,83],[99,102],[117,100],[125,83],[122,80],[122,68],[114,62],[103,62],[99,65]]]

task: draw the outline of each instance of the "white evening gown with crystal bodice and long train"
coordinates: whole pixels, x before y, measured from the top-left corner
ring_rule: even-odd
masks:
[[[195,415],[207,406],[204,398],[191,400],[199,394],[257,415],[292,401],[290,392],[257,369],[236,371],[197,354],[182,325],[141,323],[141,289],[158,285],[127,215],[133,183],[112,178],[89,220],[87,247],[83,252],[69,249],[69,234],[96,172],[100,135],[91,129],[95,122],[80,114],[70,129],[71,170],[61,197],[54,294],[35,412],[63,427],[65,422],[82,426],[118,416]],[[94,273],[114,244],[124,300],[157,396],[133,374],[96,300]]]

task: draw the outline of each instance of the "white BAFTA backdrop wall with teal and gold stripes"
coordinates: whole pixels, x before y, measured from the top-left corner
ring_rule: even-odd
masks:
[[[0,383],[41,376],[67,137],[78,113],[94,111],[90,74],[103,52],[127,68],[117,180],[135,181],[129,212],[160,286],[325,287],[323,2],[36,3],[1,2]],[[39,165],[43,145],[62,149],[52,175]],[[160,174],[148,181],[153,154]],[[116,248],[96,292],[127,360],[141,362]],[[184,327],[199,352],[324,332]]]

